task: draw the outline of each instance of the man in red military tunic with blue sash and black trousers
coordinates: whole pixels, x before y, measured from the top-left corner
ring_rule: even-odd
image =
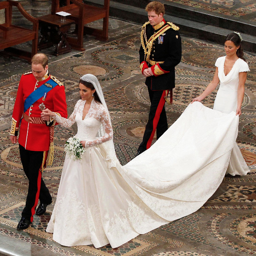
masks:
[[[67,117],[65,89],[48,73],[48,58],[37,53],[31,60],[32,72],[21,76],[12,114],[10,140],[17,143],[24,172],[28,178],[26,206],[21,213],[17,229],[28,228],[36,215],[45,213],[52,197],[42,179],[43,169],[51,165],[53,158],[53,133],[56,122],[41,117],[43,109],[51,109],[57,115]],[[19,130],[20,126],[20,130]]]

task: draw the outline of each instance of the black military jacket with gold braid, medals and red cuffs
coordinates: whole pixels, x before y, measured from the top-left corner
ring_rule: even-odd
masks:
[[[145,34],[147,40],[149,40],[154,33],[160,31],[164,26],[166,26],[165,21],[161,28],[154,30],[152,25],[146,23]],[[149,56],[150,60],[163,63],[156,64],[157,66],[155,66],[154,64],[146,62],[144,49],[142,45],[140,47],[140,67],[142,73],[147,66],[152,67],[154,73],[154,76],[147,77],[145,82],[151,90],[168,90],[175,87],[175,66],[178,65],[181,60],[181,38],[177,26],[171,23],[168,23],[168,26],[170,26],[168,30],[164,31],[164,33],[161,33],[160,36],[154,39]],[[145,36],[143,36],[143,40],[146,45]]]

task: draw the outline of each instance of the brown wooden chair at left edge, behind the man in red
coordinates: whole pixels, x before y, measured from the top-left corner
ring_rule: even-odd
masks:
[[[18,7],[19,12],[33,23],[33,30],[12,25],[13,6]],[[30,62],[33,55],[37,53],[38,19],[29,15],[17,1],[7,0],[0,2],[0,9],[5,9],[5,23],[0,24],[0,50],[4,50],[2,54],[20,57]],[[31,52],[11,47],[30,40],[32,40]]]

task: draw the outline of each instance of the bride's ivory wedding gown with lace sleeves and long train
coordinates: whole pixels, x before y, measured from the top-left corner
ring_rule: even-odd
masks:
[[[170,221],[197,211],[219,187],[235,145],[239,117],[189,104],[152,147],[125,166],[109,168],[112,130],[106,111],[92,101],[82,119],[79,100],[62,126],[78,125],[76,137],[96,141],[82,160],[65,158],[47,232],[64,246],[119,247]],[[103,123],[106,135],[97,139]],[[210,136],[209,136],[210,135]]]

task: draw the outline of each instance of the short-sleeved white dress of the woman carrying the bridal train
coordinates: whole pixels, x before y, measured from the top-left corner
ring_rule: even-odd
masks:
[[[230,113],[237,110],[237,88],[239,84],[239,73],[250,71],[248,64],[242,59],[237,59],[230,72],[225,76],[224,63],[226,56],[216,60],[215,66],[218,67],[218,78],[220,88],[218,89],[213,109],[223,113]],[[249,168],[244,161],[241,151],[237,144],[232,149],[227,173],[235,175],[246,175]]]

